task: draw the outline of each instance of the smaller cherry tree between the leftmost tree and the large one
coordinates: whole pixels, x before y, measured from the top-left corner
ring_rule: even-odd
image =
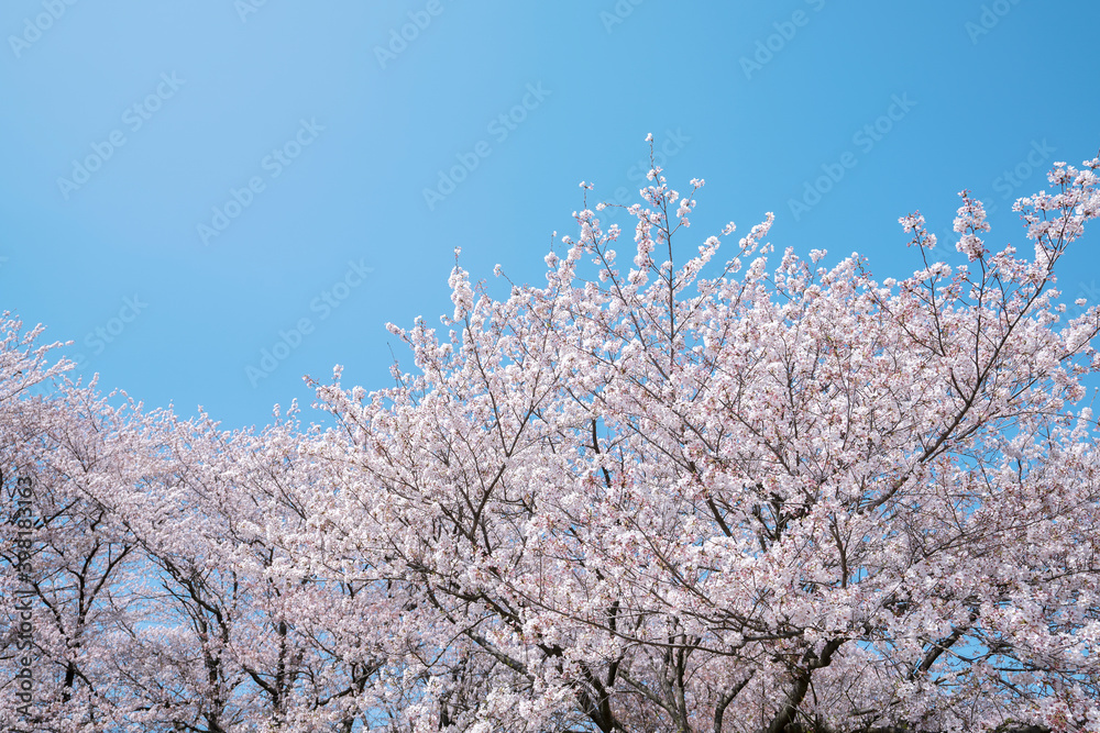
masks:
[[[131,423],[140,475],[92,491],[145,560],[114,629],[114,684],[140,730],[344,730],[378,708],[378,619],[360,584],[297,563],[324,489],[293,420],[221,431],[156,410]],[[323,547],[323,537],[309,544]],[[353,604],[353,606],[352,606]]]

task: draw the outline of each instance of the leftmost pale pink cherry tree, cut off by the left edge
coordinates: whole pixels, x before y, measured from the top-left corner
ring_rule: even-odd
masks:
[[[18,320],[3,318],[0,346],[0,442],[4,499],[12,521],[3,525],[0,563],[4,568],[0,666],[4,730],[26,700],[15,697],[21,659],[35,659],[35,706],[24,724],[67,721],[56,730],[77,730],[77,721],[110,719],[116,689],[105,675],[110,630],[133,577],[133,544],[110,526],[106,509],[85,492],[94,482],[127,470],[123,456],[109,455],[102,440],[118,427],[119,414],[95,396],[95,385],[65,382],[46,389],[68,365],[46,366],[58,344],[35,346],[41,326],[21,333]],[[25,501],[16,486],[25,481]],[[33,632],[19,634],[20,622]]]

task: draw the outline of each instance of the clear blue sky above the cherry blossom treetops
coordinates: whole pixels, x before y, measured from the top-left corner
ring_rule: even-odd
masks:
[[[0,310],[106,389],[263,424],[305,374],[410,366],[384,324],[451,311],[455,246],[542,282],[578,184],[634,197],[650,132],[707,181],[700,241],[773,211],[780,249],[903,277],[900,215],[944,232],[968,187],[1022,243],[1011,201],[1096,155],[1098,26],[1088,0],[8,0]],[[1089,240],[1070,298],[1100,296]]]

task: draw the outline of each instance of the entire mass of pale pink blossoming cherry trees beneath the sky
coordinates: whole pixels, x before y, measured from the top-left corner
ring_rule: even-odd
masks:
[[[391,326],[411,371],[311,382],[327,430],[102,397],[0,318],[6,499],[35,487],[0,724],[1100,731],[1100,309],[1055,278],[1098,168],[1016,202],[1026,256],[967,191],[966,264],[903,216],[919,269],[878,281],[777,257],[771,214],[718,259],[654,165],[628,266],[587,198],[546,286],[457,262],[442,332]]]

